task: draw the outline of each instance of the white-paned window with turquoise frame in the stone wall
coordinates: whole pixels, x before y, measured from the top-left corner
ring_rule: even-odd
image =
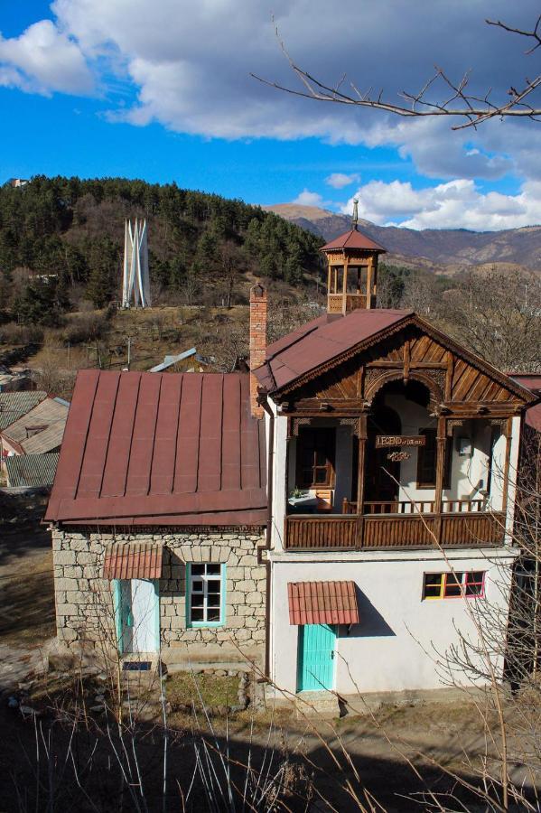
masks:
[[[214,626],[225,621],[225,565],[186,565],[187,621],[191,626]]]

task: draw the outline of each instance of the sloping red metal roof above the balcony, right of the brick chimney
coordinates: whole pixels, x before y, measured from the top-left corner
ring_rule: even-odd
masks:
[[[269,344],[266,363],[254,370],[255,375],[267,392],[281,389],[412,314],[383,308],[359,309],[345,316],[325,313]]]

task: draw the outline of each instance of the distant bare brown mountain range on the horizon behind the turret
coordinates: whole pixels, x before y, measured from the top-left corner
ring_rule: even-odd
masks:
[[[264,207],[285,220],[331,240],[351,228],[348,215],[280,203]],[[541,271],[541,226],[503,231],[468,229],[403,229],[377,226],[359,220],[359,229],[387,248],[387,262],[405,266],[431,267],[436,273],[453,274],[467,266],[522,266]]]

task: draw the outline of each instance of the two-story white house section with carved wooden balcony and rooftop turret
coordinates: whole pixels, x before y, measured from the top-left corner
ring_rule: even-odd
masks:
[[[479,638],[471,610],[507,616],[535,398],[412,311],[378,309],[383,249],[355,224],[322,250],[327,313],[255,369],[272,466],[269,672],[287,692],[441,687],[436,661]]]

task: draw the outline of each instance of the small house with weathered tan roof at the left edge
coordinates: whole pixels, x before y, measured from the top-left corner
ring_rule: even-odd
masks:
[[[7,397],[7,393],[5,397]],[[11,393],[33,396],[40,393]],[[0,394],[1,396],[1,394]],[[28,403],[32,400],[29,398]],[[17,416],[0,430],[3,458],[13,454],[44,454],[58,452],[70,404],[63,398],[43,397],[39,403]]]

